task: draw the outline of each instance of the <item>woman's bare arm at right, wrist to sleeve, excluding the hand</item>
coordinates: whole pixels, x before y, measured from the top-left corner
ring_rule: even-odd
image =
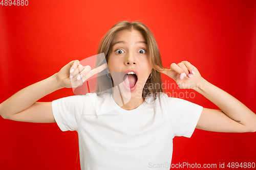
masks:
[[[203,108],[197,129],[215,132],[255,132],[256,114],[224,90],[201,78],[193,88],[221,110]]]

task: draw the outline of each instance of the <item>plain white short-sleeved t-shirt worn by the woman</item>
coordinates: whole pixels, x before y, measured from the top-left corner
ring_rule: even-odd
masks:
[[[160,92],[134,110],[113,94],[73,95],[52,102],[62,131],[77,131],[82,170],[169,169],[175,136],[190,137],[202,106]]]

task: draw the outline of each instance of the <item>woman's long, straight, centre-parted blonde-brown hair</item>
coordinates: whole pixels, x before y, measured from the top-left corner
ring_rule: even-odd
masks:
[[[150,56],[150,63],[153,69],[152,69],[152,77],[147,79],[143,87],[142,98],[143,100],[145,100],[145,98],[150,93],[152,93],[155,98],[154,94],[158,92],[164,92],[164,89],[162,88],[161,74],[160,72],[154,69],[155,64],[157,64],[161,68],[164,68],[164,67],[162,65],[162,60],[161,60],[157,42],[153,34],[151,33],[150,29],[148,29],[142,22],[139,22],[139,21],[130,22],[130,21],[124,20],[116,23],[116,25],[114,25],[101,38],[98,46],[97,54],[104,53],[105,60],[106,62],[108,62],[109,52],[112,48],[113,38],[119,31],[123,31],[123,30],[128,30],[128,31],[137,30],[141,32],[141,34],[143,35],[147,43],[148,54]],[[102,59],[97,58],[95,67],[100,66],[102,64],[103,64]],[[108,72],[106,72],[106,70],[99,72],[98,79],[97,79],[97,87],[96,87],[96,91],[97,91],[96,93],[98,95],[101,95],[102,93],[106,93],[106,92],[113,93],[113,90],[112,90],[113,86],[110,86],[113,84],[113,79],[109,78],[107,74]],[[106,83],[106,82],[109,82],[109,83]]]

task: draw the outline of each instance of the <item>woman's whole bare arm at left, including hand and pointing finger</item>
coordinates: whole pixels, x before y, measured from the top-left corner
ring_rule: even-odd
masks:
[[[82,66],[78,60],[71,61],[51,77],[13,94],[0,104],[0,114],[3,118],[20,122],[54,123],[52,102],[36,101],[60,88],[80,86],[86,79],[106,67],[105,64],[91,70],[90,66]]]

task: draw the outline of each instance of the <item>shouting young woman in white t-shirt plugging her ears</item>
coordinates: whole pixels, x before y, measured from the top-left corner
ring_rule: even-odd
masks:
[[[203,79],[194,65],[182,61],[164,68],[157,43],[143,23],[118,22],[102,38],[97,54],[101,53],[108,65],[97,60],[97,68],[91,69],[78,60],[71,61],[53,76],[3,102],[2,117],[56,122],[62,131],[77,131],[81,169],[141,170],[156,164],[169,169],[175,136],[190,137],[195,128],[256,131],[256,115]],[[80,86],[97,73],[101,76],[95,93],[36,102],[57,89]],[[168,97],[161,86],[161,73],[180,88],[198,91],[221,110]]]

